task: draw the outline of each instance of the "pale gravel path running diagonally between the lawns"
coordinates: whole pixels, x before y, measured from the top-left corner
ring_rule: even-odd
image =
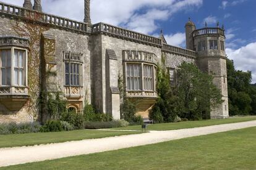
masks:
[[[0,148],[0,167],[156,144],[168,140],[202,136],[254,126],[256,126],[256,121],[247,121],[173,131],[150,131],[144,134],[36,145],[32,147]]]

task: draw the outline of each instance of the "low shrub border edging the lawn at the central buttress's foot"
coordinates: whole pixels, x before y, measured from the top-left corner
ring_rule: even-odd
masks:
[[[126,127],[129,123],[125,120],[118,121],[101,121],[101,122],[90,122],[85,123],[85,129],[102,129],[102,128],[112,128],[112,127]]]

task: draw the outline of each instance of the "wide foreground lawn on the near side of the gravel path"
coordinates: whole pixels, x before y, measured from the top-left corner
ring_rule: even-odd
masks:
[[[256,169],[255,144],[251,127],[2,169]]]

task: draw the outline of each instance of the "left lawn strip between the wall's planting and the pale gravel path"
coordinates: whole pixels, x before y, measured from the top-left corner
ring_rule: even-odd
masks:
[[[140,132],[77,130],[48,133],[9,134],[0,135],[0,148],[50,144],[71,140],[96,139],[137,133]]]

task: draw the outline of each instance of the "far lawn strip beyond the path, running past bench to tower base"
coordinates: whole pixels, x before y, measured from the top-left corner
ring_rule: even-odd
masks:
[[[160,123],[160,124],[150,124],[147,127],[147,130],[148,131],[167,131],[167,130],[175,130],[175,129],[211,126],[211,125],[218,125],[218,124],[239,123],[242,121],[252,121],[252,120],[256,120],[256,116],[229,118],[229,119],[210,119],[210,120],[201,120],[201,121],[183,121],[179,123]],[[142,126],[135,125],[135,126],[119,127],[119,128],[113,128],[113,129],[141,130]]]

